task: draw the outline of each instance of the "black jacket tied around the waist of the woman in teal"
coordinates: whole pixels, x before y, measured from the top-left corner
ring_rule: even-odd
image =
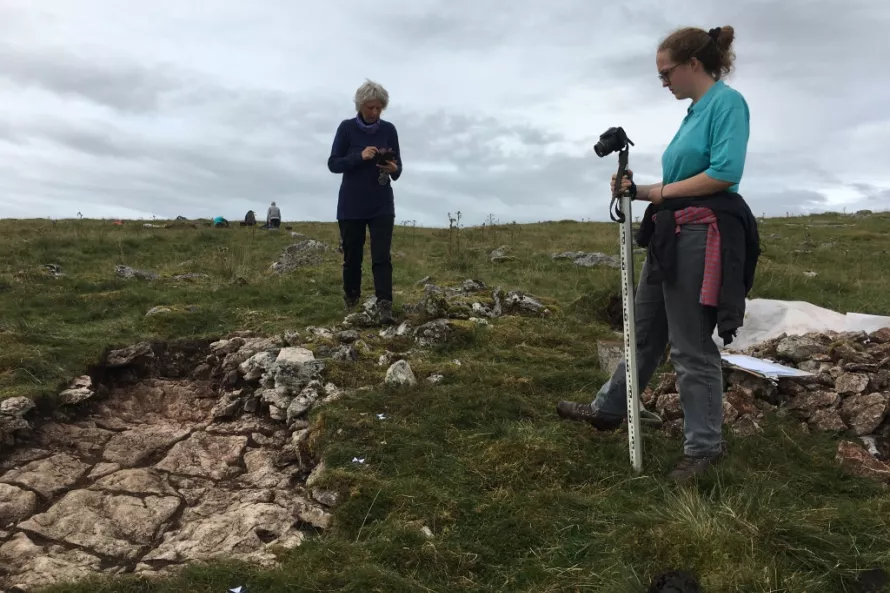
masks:
[[[647,248],[650,284],[671,281],[676,273],[676,223],[674,213],[689,208],[709,208],[720,231],[720,298],[717,333],[729,344],[745,320],[745,299],[754,285],[760,258],[757,219],[742,196],[719,192],[698,198],[671,198],[649,204],[637,232],[637,245]]]

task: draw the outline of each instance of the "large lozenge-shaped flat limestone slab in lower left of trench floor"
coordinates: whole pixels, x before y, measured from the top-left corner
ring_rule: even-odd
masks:
[[[19,528],[42,537],[80,546],[97,554],[124,560],[138,558],[179,509],[175,496],[108,494],[74,490],[49,510],[21,523]]]

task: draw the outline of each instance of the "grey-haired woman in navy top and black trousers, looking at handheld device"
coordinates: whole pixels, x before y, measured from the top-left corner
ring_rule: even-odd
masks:
[[[347,310],[358,305],[362,288],[365,229],[371,235],[371,271],[380,321],[392,324],[392,182],[402,174],[396,127],[380,119],[389,93],[366,81],[355,92],[355,117],[337,128],[328,169],[342,173],[337,222],[343,249],[343,293]]]

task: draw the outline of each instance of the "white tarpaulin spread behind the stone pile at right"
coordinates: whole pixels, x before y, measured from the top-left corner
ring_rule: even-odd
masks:
[[[802,335],[810,332],[865,331],[890,327],[890,317],[863,313],[838,313],[804,301],[750,299],[746,301],[745,325],[727,350],[744,350],[780,335]],[[723,340],[714,332],[714,341],[724,348]]]

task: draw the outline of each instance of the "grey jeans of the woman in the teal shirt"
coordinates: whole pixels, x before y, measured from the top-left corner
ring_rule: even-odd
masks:
[[[686,455],[714,455],[723,446],[723,371],[720,350],[712,335],[717,310],[700,303],[705,269],[708,225],[680,227],[677,236],[677,276],[672,282],[647,284],[649,262],[643,264],[634,300],[637,332],[637,372],[640,389],[658,368],[671,345],[683,407],[683,446]],[[593,401],[603,416],[627,416],[624,361],[600,388]]]

